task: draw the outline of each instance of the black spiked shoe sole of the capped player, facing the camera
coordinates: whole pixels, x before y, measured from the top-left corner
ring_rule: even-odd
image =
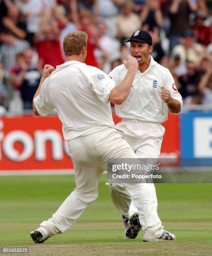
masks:
[[[139,213],[135,212],[129,218],[128,222],[129,228],[125,232],[126,239],[135,239],[138,236],[139,231],[141,230],[141,224],[139,221]]]

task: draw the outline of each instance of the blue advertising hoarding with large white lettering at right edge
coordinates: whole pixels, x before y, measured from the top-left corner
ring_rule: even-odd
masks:
[[[186,165],[212,165],[212,111],[190,111],[181,114],[181,159]]]

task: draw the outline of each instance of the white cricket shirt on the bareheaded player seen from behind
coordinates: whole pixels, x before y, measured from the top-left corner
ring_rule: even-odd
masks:
[[[40,115],[54,108],[63,124],[65,140],[114,128],[109,95],[114,81],[96,67],[67,61],[42,84],[34,104]]]

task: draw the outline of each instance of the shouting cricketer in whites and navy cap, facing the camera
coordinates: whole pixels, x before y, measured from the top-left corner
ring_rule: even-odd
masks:
[[[116,128],[124,132],[124,139],[139,158],[158,159],[165,132],[161,123],[167,120],[168,109],[174,114],[180,112],[182,97],[169,69],[159,65],[149,55],[153,46],[148,32],[136,31],[126,42],[130,42],[131,56],[137,59],[139,69],[129,96],[121,105],[115,105],[116,115],[122,118]],[[127,69],[122,64],[114,68],[109,76],[119,84],[126,72]],[[126,226],[126,238],[136,238],[141,228],[135,227],[131,222],[135,218],[134,213],[138,212],[134,200],[131,201],[131,196],[122,184],[109,184],[109,190],[114,205],[125,216],[123,220],[130,219],[130,228]],[[150,207],[143,219],[139,215],[139,220],[145,233],[148,231],[154,234],[162,225],[157,214],[154,184],[146,184],[145,198]]]

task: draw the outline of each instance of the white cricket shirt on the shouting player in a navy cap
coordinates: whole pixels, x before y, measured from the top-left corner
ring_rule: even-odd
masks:
[[[179,100],[182,97],[177,91],[169,69],[159,65],[150,56],[148,69],[141,73],[137,70],[127,99],[121,105],[115,105],[116,115],[120,118],[138,119],[146,122],[163,123],[168,118],[167,104],[161,98],[162,87],[170,90],[171,97]],[[114,68],[109,76],[116,84],[123,81],[127,69],[124,64]]]

